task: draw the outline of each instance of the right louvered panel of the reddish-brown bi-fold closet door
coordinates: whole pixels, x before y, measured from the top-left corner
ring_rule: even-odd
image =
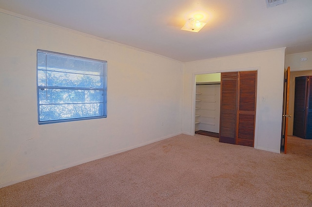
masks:
[[[257,71],[238,73],[236,144],[254,147]]]

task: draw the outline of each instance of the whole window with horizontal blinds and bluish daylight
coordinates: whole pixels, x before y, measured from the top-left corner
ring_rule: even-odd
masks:
[[[105,118],[107,61],[37,51],[38,123]]]

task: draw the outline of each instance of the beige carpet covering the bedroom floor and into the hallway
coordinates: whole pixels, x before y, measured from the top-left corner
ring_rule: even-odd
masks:
[[[312,140],[288,154],[179,135],[0,189],[1,207],[312,207]]]

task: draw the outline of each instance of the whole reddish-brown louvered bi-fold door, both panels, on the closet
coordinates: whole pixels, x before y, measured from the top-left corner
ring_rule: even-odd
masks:
[[[220,142],[254,146],[257,71],[221,73]]]

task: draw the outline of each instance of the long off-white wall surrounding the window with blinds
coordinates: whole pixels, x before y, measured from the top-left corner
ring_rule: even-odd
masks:
[[[0,187],[181,133],[181,62],[1,12],[0,28]],[[37,49],[107,60],[107,118],[39,125]]]

